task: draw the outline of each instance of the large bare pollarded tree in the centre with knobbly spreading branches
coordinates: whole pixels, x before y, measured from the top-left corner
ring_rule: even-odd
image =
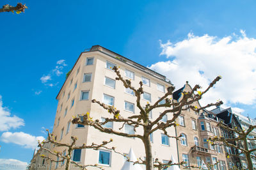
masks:
[[[191,91],[183,92],[183,98],[181,100],[179,100],[179,102],[177,100],[172,100],[172,98],[170,98],[170,97],[172,97],[173,91],[175,89],[174,86],[170,86],[167,88],[168,91],[167,91],[167,93],[165,93],[165,95],[163,97],[159,98],[159,100],[157,100],[152,105],[150,105],[150,104],[145,105],[145,109],[143,109],[143,106],[141,105],[141,101],[140,101],[141,95],[144,93],[143,87],[142,87],[143,83],[140,82],[140,87],[138,89],[136,89],[136,88],[134,88],[134,86],[132,86],[131,81],[129,81],[128,79],[124,79],[122,77],[122,75],[120,75],[120,72],[116,66],[113,68],[113,70],[115,71],[115,73],[117,75],[116,80],[122,81],[125,88],[129,88],[132,91],[134,91],[135,96],[136,96],[136,106],[140,109],[140,112],[136,113],[134,116],[129,116],[128,118],[124,118],[120,115],[120,111],[117,110],[115,107],[106,105],[102,102],[99,102],[99,101],[93,99],[92,103],[99,104],[102,108],[106,109],[110,114],[113,114],[113,118],[106,118],[105,121],[100,122],[99,120],[93,120],[93,118],[90,117],[90,114],[88,113],[83,116],[83,119],[78,118],[78,117],[74,118],[72,120],[72,123],[81,124],[81,125],[89,125],[89,126],[96,128],[100,132],[104,132],[104,133],[108,133],[108,134],[115,134],[115,135],[120,135],[120,136],[124,136],[124,137],[134,137],[134,138],[141,139],[141,141],[143,142],[144,147],[145,147],[146,160],[145,161],[141,160],[136,163],[145,164],[147,170],[152,170],[152,169],[154,169],[154,167],[162,169],[162,168],[166,168],[166,166],[172,165],[172,164],[161,164],[156,161],[153,162],[152,146],[150,143],[150,134],[152,134],[156,130],[162,130],[164,132],[164,134],[167,135],[168,137],[177,138],[175,136],[169,135],[166,132],[166,128],[177,126],[177,123],[175,123],[175,120],[178,118],[178,116],[180,115],[180,113],[182,111],[189,109],[189,107],[183,107],[183,106],[191,105],[194,102],[198,102],[202,98],[202,96],[210,88],[212,88],[212,86],[214,86],[214,84],[216,84],[217,81],[219,81],[221,79],[221,77],[220,76],[216,77],[216,79],[214,79],[214,81],[212,81],[211,84],[209,84],[209,87],[207,89],[205,89],[205,91],[198,91],[198,93],[195,94],[195,92],[200,88],[199,85],[196,85]],[[165,100],[164,104],[159,104],[162,100]],[[205,107],[201,107],[201,108],[197,108],[194,106],[190,106],[190,108],[193,109],[194,111],[200,111],[201,109],[205,109],[207,107],[211,107],[213,105],[220,105],[220,104],[222,104],[221,101],[217,102],[216,104],[208,104]],[[150,119],[149,119],[150,111],[152,111],[153,109],[159,108],[159,107],[166,107],[166,110],[164,112],[162,112],[161,114],[159,114],[159,116],[158,116],[158,118],[156,118],[156,120],[150,121]],[[172,119],[167,120],[166,123],[160,122],[160,120],[163,118],[163,116],[166,115],[167,113],[173,113]],[[119,131],[113,130],[112,128],[105,128],[104,125],[108,122],[123,123],[122,127],[120,127],[119,129],[122,129],[125,124],[132,125],[134,127],[135,132],[136,132],[136,128],[142,127],[143,134],[126,134],[124,132],[119,132]],[[158,158],[156,158],[156,160],[158,160]],[[172,162],[170,162],[170,163],[172,163]],[[182,163],[184,163],[184,162],[182,162]]]

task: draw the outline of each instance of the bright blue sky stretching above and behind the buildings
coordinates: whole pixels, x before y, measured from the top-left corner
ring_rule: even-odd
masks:
[[[2,3],[14,5],[17,1]],[[38,139],[36,137],[45,137],[42,131],[51,128],[54,123],[58,104],[55,97],[65,81],[65,73],[72,68],[79,54],[92,45],[102,45],[141,65],[168,74],[166,76],[173,83],[176,82],[177,88],[187,79],[192,84],[193,80],[207,84],[218,73],[224,74],[223,80],[226,77],[229,79],[226,79],[227,83],[220,83],[221,93],[214,94],[226,102],[226,107],[236,107],[237,111],[256,117],[253,107],[255,85],[246,83],[249,80],[256,82],[255,65],[250,65],[255,63],[255,1],[23,0],[22,3],[28,6],[25,13],[0,13],[0,102],[3,102],[0,103],[0,111],[2,108],[5,113],[8,112],[10,115],[7,117],[17,116],[15,121],[18,123],[16,126],[7,123],[8,126],[2,130],[0,127],[2,161],[12,158],[29,162],[33,144],[24,146],[22,143],[13,143],[16,137],[14,133],[31,135],[29,139],[32,141]],[[250,44],[252,48],[246,48]],[[198,45],[198,50],[195,51],[193,45]],[[239,50],[238,47],[242,46]],[[207,68],[204,68],[208,53],[201,49],[212,50],[212,54],[219,56],[218,62],[225,65],[218,68],[218,63],[208,63],[205,64]],[[232,49],[237,55],[241,52],[241,55],[229,54]],[[239,59],[246,56],[243,54],[251,56],[243,59],[246,62],[240,68],[241,64],[237,63],[241,63]],[[57,61],[62,60],[65,60],[65,64],[57,64]],[[190,64],[185,60],[191,61]],[[209,61],[214,61],[211,54]],[[184,69],[175,70],[172,62]],[[195,63],[200,65],[191,69],[204,73],[186,77],[186,68]],[[246,77],[250,73],[241,71],[243,83],[236,84],[240,81],[232,75],[234,70],[229,68],[230,65],[234,65],[235,70],[239,68],[237,72],[250,68],[252,75]],[[56,72],[56,66],[59,66],[58,70],[62,74]],[[173,69],[175,73],[171,72]],[[229,69],[231,71],[226,72]],[[51,75],[51,80],[42,83],[40,78],[45,75]],[[231,82],[237,87],[233,90],[239,93],[225,92],[227,87],[230,89],[232,86],[228,84]],[[216,100],[213,97],[206,99],[207,102]]]

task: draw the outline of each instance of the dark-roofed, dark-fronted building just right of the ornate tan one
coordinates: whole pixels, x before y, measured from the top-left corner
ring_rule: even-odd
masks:
[[[240,121],[236,118],[236,115],[232,112],[232,109],[229,107],[228,109],[222,109],[221,107],[216,107],[216,109],[213,109],[211,112],[214,112],[218,118],[224,121],[225,125],[230,128],[237,128],[237,130],[242,130]],[[225,128],[221,128],[221,135],[228,138],[234,138],[237,137],[236,132],[234,131],[228,131]],[[230,142],[232,144],[235,144],[236,146],[243,146],[241,141],[233,141]],[[234,167],[238,167],[241,169],[242,167],[247,167],[246,164],[246,157],[244,153],[241,153],[240,150],[237,150],[234,147],[225,146],[225,151],[229,155],[229,158],[227,158],[228,167],[230,169],[233,169]]]

